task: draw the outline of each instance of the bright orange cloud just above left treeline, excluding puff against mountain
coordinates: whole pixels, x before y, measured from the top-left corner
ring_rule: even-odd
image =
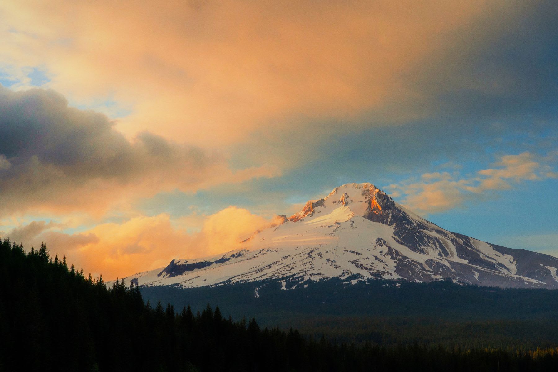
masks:
[[[47,243],[52,255],[66,255],[69,263],[95,276],[116,278],[166,265],[180,257],[190,235],[175,228],[168,215],[138,216],[123,223],[105,223],[83,233],[69,234],[59,225],[32,221],[4,232],[26,249]]]

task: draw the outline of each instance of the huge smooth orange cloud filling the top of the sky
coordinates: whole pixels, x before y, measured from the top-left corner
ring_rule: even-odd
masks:
[[[218,148],[262,126],[296,129],[285,120],[292,117],[348,119],[380,108],[392,122],[421,115],[424,105],[411,113],[395,104],[420,100],[409,76],[500,8],[512,7],[21,0],[0,6],[0,65],[23,85],[22,69],[41,66],[48,86],[74,102],[110,98],[132,107],[118,123],[129,137],[150,130]]]

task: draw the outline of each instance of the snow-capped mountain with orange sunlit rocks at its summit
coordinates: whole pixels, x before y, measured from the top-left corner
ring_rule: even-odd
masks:
[[[126,278],[140,286],[198,287],[263,279],[348,276],[498,287],[558,288],[558,258],[452,233],[408,211],[371,183],[336,187],[241,248]],[[446,279],[447,280],[447,279]],[[284,285],[284,284],[283,284]]]

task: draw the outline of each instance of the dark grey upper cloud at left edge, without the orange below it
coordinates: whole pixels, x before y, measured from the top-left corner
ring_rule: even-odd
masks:
[[[94,177],[124,181],[168,162],[205,165],[200,149],[178,146],[152,133],[129,142],[105,115],[68,107],[52,90],[1,89],[0,120],[0,154],[14,172],[33,157],[75,182]]]

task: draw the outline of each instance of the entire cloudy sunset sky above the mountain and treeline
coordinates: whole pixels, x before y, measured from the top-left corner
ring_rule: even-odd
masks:
[[[0,236],[105,279],[349,182],[558,257],[552,1],[3,1]]]

